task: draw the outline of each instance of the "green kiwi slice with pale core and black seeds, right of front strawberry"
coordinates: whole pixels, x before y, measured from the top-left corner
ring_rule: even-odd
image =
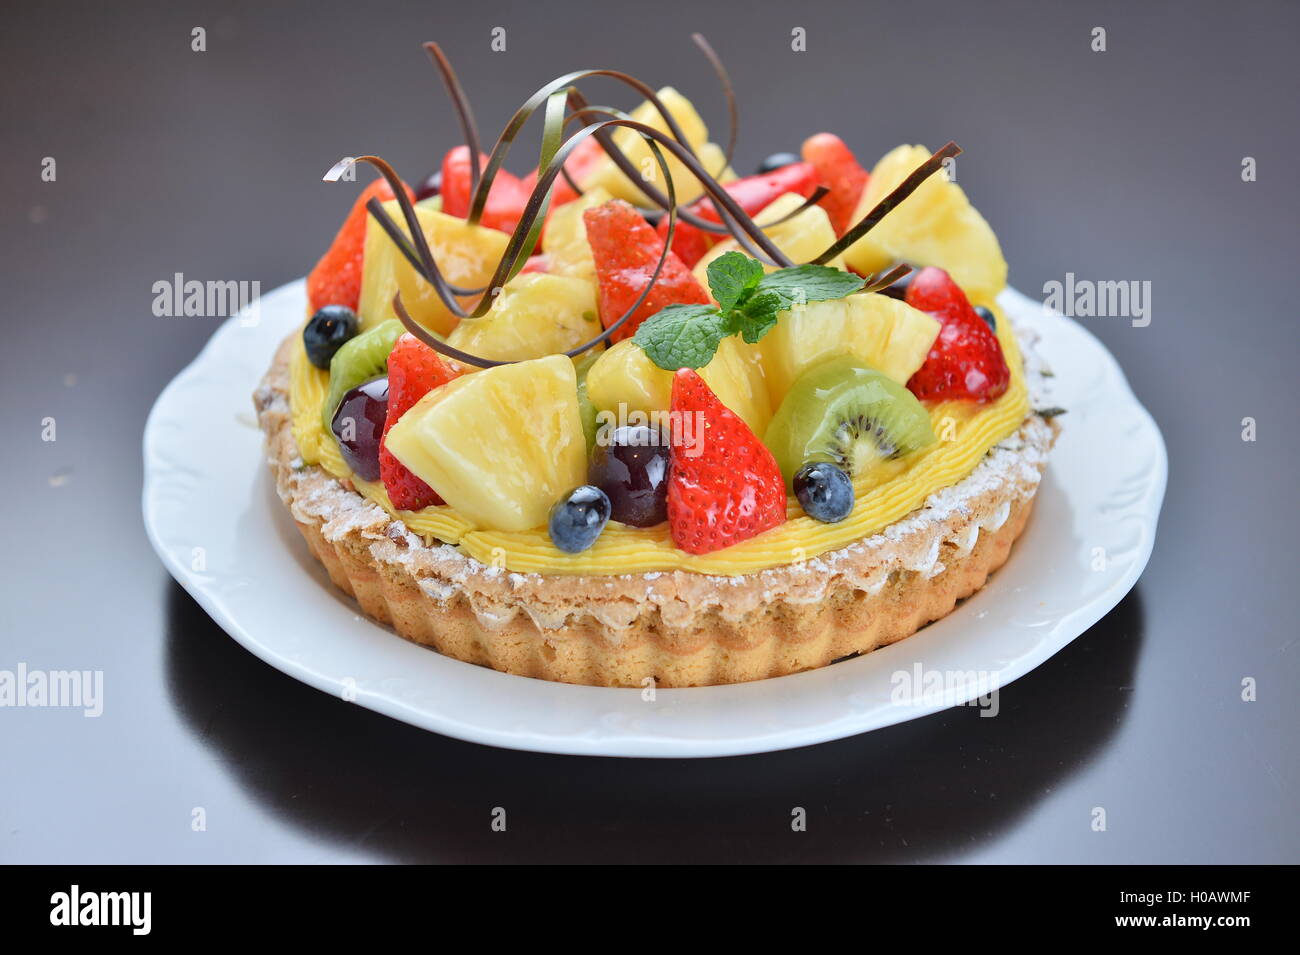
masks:
[[[859,478],[933,442],[930,414],[915,395],[850,355],[796,378],[763,435],[786,489],[811,461],[829,461]]]

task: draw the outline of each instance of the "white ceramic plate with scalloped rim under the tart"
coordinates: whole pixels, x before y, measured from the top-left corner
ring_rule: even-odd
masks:
[[[144,525],[162,563],[231,637],[325,693],[493,746],[606,756],[727,756],[864,733],[966,703],[1034,669],[1138,581],[1165,494],[1165,444],[1119,365],[1079,325],[1019,292],[1065,407],[1030,526],[1010,561],[944,620],[862,657],[736,686],[567,686],[451,660],[358,613],[276,496],[252,391],[300,321],[303,283],[226,321],[162,391],[144,429]],[[1097,550],[1101,548],[1101,550]],[[1096,568],[1101,569],[1096,569]],[[946,686],[897,703],[896,674]]]

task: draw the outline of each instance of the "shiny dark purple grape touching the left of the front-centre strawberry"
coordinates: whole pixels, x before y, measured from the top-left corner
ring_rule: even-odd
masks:
[[[608,495],[614,520],[633,528],[668,520],[668,442],[658,427],[616,427],[597,440],[586,478]]]

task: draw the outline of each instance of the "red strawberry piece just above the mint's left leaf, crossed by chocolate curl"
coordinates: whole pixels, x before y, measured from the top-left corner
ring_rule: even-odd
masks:
[[[663,240],[641,213],[621,199],[602,203],[582,213],[586,240],[595,260],[599,279],[601,322],[610,327],[632,308],[650,283],[655,262],[663,255]],[[637,326],[664,305],[706,304],[708,292],[690,274],[676,252],[670,252],[654,287],[614,340],[630,338]]]

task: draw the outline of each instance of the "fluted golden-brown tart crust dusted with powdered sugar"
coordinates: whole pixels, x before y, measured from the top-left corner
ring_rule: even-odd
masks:
[[[1041,370],[1018,335],[1031,394]],[[276,489],[341,590],[398,634],[465,663],[595,686],[738,683],[824,667],[948,615],[1008,559],[1057,426],[1030,414],[963,481],[881,531],[737,577],[512,573],[426,544],[303,463],[281,344],[254,395]]]

